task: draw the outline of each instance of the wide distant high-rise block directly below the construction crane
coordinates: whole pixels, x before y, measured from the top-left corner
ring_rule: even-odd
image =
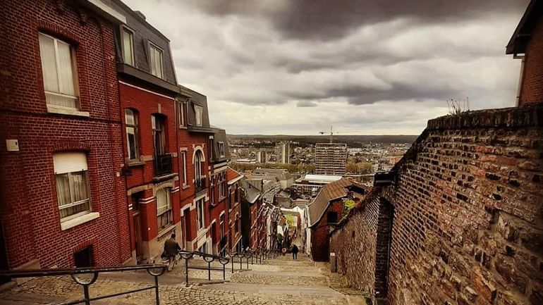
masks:
[[[345,175],[347,144],[315,144],[315,174]]]

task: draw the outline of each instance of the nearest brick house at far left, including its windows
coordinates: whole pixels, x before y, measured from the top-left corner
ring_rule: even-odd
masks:
[[[1,268],[125,263],[125,16],[99,0],[7,0],[0,18]]]

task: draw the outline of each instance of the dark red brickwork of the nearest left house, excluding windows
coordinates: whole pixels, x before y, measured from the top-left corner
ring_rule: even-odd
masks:
[[[2,1],[0,63],[0,216],[11,268],[37,259],[73,266],[73,252],[92,244],[97,266],[130,258],[113,30],[85,10],[54,1]],[[75,46],[82,111],[90,118],[47,113],[38,32]],[[17,46],[11,48],[11,46]],[[7,152],[5,139],[20,151]],[[61,231],[52,156],[87,153],[92,208],[100,217]]]

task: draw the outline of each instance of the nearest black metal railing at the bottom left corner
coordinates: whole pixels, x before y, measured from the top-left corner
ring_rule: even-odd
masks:
[[[112,272],[122,272],[122,271],[135,271],[135,270],[146,270],[147,273],[154,277],[154,285],[143,287],[135,290],[128,290],[126,292],[117,292],[114,294],[106,294],[98,297],[90,297],[89,287],[94,284],[98,279],[100,273],[112,273]],[[72,305],[72,304],[87,304],[89,305],[91,301],[97,301],[99,299],[108,299],[111,297],[118,297],[123,294],[132,294],[135,292],[142,292],[145,290],[154,289],[154,301],[155,304],[160,304],[159,299],[159,276],[164,274],[166,271],[166,266],[164,265],[140,265],[140,266],[120,266],[120,267],[97,267],[97,268],[69,268],[69,269],[29,269],[29,270],[7,270],[0,271],[0,278],[37,278],[44,276],[59,276],[59,275],[70,275],[72,280],[78,285],[83,286],[83,299],[78,299],[76,301],[68,301],[66,303],[61,303],[62,305]],[[92,275],[90,280],[78,278],[78,275]]]

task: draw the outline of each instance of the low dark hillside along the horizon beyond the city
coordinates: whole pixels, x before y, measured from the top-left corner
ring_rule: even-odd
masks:
[[[418,135],[334,135],[334,143],[346,143],[348,147],[362,147],[369,143],[411,144]],[[228,135],[228,142],[281,142],[292,141],[300,144],[328,143],[328,135]]]

